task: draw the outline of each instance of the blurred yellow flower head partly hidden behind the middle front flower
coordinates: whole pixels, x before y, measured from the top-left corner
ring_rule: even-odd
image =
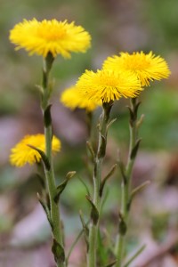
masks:
[[[71,86],[61,93],[61,102],[69,109],[86,109],[93,111],[101,106],[101,101],[96,102],[93,100],[85,99],[84,95],[77,90],[77,86]]]

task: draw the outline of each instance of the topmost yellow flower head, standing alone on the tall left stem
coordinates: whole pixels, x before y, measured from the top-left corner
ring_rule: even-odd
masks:
[[[10,41],[24,48],[31,55],[36,53],[46,57],[61,54],[70,58],[71,52],[83,52],[90,47],[91,36],[81,26],[67,20],[23,20],[10,31]]]

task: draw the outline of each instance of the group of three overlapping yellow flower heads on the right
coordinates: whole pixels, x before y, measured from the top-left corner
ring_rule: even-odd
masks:
[[[103,62],[101,70],[85,70],[77,85],[61,95],[70,109],[95,109],[101,102],[117,101],[121,97],[134,98],[152,80],[168,77],[166,61],[152,52],[120,53]]]

